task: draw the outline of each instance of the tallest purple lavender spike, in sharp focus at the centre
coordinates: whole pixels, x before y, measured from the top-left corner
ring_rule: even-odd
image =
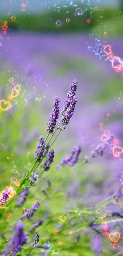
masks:
[[[62,117],[62,124],[67,125],[73,116],[75,110],[75,104],[77,102],[77,98],[75,96],[75,91],[77,89],[77,79],[75,78],[70,86],[70,90],[67,93],[67,97],[65,99],[65,103],[61,110]]]

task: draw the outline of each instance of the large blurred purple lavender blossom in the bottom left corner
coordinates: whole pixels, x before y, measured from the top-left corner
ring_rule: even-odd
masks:
[[[2,256],[10,255],[15,256],[18,252],[21,252],[21,247],[26,244],[28,236],[24,233],[24,225],[18,221],[15,225],[15,235],[11,237],[10,242],[8,243],[5,252],[2,253]]]

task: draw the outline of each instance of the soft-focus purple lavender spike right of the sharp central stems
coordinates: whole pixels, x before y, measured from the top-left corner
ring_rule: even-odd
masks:
[[[65,157],[61,160],[61,166],[59,168],[61,169],[66,165],[74,166],[79,159],[80,152],[81,147],[74,146],[71,149],[71,153],[69,155],[65,155]]]

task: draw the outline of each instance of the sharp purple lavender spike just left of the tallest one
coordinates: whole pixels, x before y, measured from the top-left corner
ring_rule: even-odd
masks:
[[[47,126],[48,126],[46,130],[47,133],[53,133],[54,128],[56,127],[57,119],[59,118],[59,102],[60,102],[59,97],[56,96],[54,100],[52,112],[49,117],[49,122],[47,123]]]

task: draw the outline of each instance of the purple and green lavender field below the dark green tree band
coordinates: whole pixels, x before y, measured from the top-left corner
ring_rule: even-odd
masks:
[[[11,185],[15,193],[12,199],[1,203],[1,255],[26,256],[32,247],[30,255],[122,255],[122,154],[115,157],[110,148],[114,139],[118,140],[118,147],[123,146],[122,74],[116,73],[109,61],[87,49],[88,34],[13,32],[1,42],[1,99],[7,100],[11,77],[21,85],[12,108],[1,114],[0,186],[3,191]],[[108,38],[107,43],[113,45],[116,56],[123,58],[122,38]],[[72,106],[67,111],[71,113],[66,113],[64,107],[62,115],[59,114],[58,120],[63,116],[61,124],[65,130],[56,130],[54,124],[53,138],[59,135],[51,147],[53,161],[51,155],[47,158],[50,168],[47,169],[48,162],[45,164],[46,156],[42,155],[40,162],[36,155],[36,164],[40,164],[35,169],[39,176],[34,180],[31,166],[35,148],[40,135],[45,139],[48,134],[45,130],[56,96],[60,102],[54,103],[55,114],[48,126],[50,136],[52,122],[56,122],[54,118],[66,97],[66,104]],[[105,130],[110,135],[107,142],[102,142]],[[42,141],[39,149],[43,147]],[[13,182],[13,177],[19,185]],[[40,207],[34,206],[36,202]],[[32,206],[30,213],[27,209]],[[20,218],[23,215],[24,221]],[[62,215],[66,216],[64,222],[60,219]],[[101,225],[99,217],[107,224]],[[36,238],[38,243],[33,245],[35,231],[39,232],[39,241]],[[19,232],[23,236],[21,241]],[[11,239],[12,233],[15,237]]]

